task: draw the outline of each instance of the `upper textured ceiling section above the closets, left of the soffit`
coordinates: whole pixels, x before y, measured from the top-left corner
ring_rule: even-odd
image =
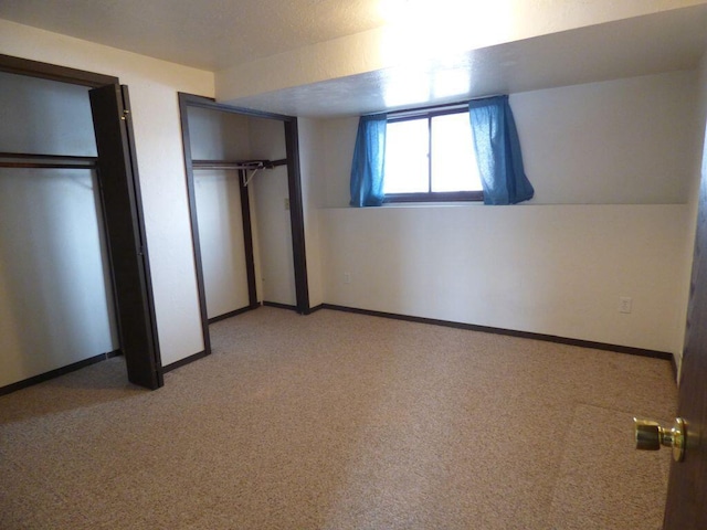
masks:
[[[2,0],[0,18],[218,71],[378,28],[379,0]]]

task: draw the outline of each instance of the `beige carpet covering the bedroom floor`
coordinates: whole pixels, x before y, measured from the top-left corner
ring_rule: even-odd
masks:
[[[658,529],[667,361],[321,310],[211,328],[0,398],[0,528]]]

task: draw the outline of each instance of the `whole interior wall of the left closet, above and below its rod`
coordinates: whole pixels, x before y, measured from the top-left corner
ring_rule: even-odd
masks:
[[[88,88],[0,72],[0,108],[2,388],[119,346]]]

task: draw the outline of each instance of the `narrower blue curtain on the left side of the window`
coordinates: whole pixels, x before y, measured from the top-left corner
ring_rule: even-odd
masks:
[[[383,203],[383,161],[388,116],[361,116],[358,123],[351,162],[352,206],[380,206]]]

